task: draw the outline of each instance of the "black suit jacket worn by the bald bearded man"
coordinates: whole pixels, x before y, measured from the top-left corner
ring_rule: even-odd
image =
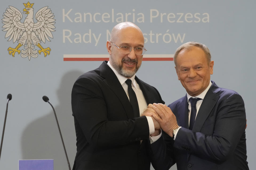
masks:
[[[154,87],[135,80],[147,104],[164,103]],[[76,80],[71,103],[77,136],[73,169],[150,169],[147,118],[134,118],[129,99],[106,61]]]

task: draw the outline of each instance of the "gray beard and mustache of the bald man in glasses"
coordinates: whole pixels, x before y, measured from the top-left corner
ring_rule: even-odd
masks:
[[[112,60],[114,61],[114,60]],[[135,62],[136,65],[138,63],[138,60],[137,59],[134,59],[134,60],[131,60],[131,59],[125,59],[123,58],[122,59],[122,62]],[[139,70],[139,67],[140,66],[137,66],[134,70],[125,70],[123,69],[123,66],[122,65],[118,65],[117,63],[115,62],[112,62],[113,64],[113,67],[115,70],[117,70],[117,73],[121,74],[123,77],[126,77],[126,78],[130,78],[130,77],[133,77],[133,75]]]

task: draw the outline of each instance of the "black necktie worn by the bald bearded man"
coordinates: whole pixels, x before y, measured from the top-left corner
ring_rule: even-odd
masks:
[[[133,88],[131,87],[131,80],[127,79],[125,83],[128,85],[128,95],[131,103],[131,107],[133,108],[134,117],[139,117],[139,104]]]

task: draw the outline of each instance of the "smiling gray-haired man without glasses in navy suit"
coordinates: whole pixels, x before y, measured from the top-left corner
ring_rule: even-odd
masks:
[[[178,170],[247,170],[246,115],[242,97],[210,81],[214,61],[200,43],[181,45],[174,55],[178,80],[187,93],[168,107],[149,104],[163,132],[151,144],[152,165]]]

